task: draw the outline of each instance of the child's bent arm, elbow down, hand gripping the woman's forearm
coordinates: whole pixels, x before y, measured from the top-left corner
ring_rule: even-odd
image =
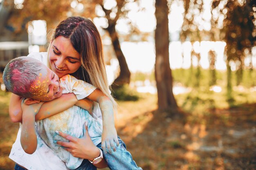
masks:
[[[25,104],[27,100],[28,99],[23,99],[21,104],[24,113],[22,115],[20,144],[26,153],[32,154],[37,148],[35,115],[38,113],[43,102],[27,105]]]

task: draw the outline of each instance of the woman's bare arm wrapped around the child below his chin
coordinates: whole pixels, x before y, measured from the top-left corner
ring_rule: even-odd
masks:
[[[9,116],[13,122],[22,122],[22,98],[18,95],[12,94],[9,104]],[[61,97],[50,102],[45,102],[40,108],[35,119],[41,120],[60,113],[76,104],[77,99],[73,93],[63,94]]]

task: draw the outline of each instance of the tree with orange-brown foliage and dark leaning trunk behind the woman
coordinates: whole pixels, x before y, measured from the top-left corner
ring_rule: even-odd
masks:
[[[127,10],[121,10],[122,7],[129,1],[117,0],[116,7],[108,10],[104,8],[103,0],[83,1],[79,2],[83,4],[84,10],[76,10],[72,8],[70,3],[60,1],[56,3],[54,0],[45,0],[43,3],[35,0],[24,1],[22,9],[15,9],[15,5],[12,0],[6,0],[4,5],[12,7],[7,24],[13,28],[14,36],[18,35],[21,31],[27,31],[27,28],[22,25],[26,25],[30,20],[46,20],[47,30],[52,29],[60,20],[68,16],[84,16],[88,18],[98,17],[95,13],[95,7],[100,5],[103,11],[106,13],[105,18],[108,20],[108,27],[105,29],[111,38],[112,45],[117,55],[117,59],[120,65],[120,74],[115,80],[114,84],[123,85],[130,83],[130,71],[126,63],[124,54],[121,51],[118,33],[115,29],[117,20],[120,16],[124,16]],[[115,17],[110,17],[115,13]]]

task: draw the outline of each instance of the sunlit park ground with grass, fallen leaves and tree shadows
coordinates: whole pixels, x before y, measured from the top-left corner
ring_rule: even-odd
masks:
[[[119,102],[116,127],[144,170],[256,170],[256,92],[224,94],[191,91],[176,95],[180,114],[158,112],[157,96],[138,94]],[[0,92],[0,170],[13,170],[8,158],[19,125],[8,115],[10,93]]]

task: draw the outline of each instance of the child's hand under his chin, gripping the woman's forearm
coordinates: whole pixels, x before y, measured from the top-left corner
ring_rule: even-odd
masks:
[[[21,109],[24,114],[33,114],[34,116],[38,113],[44,102],[29,102],[29,99],[22,99]]]

